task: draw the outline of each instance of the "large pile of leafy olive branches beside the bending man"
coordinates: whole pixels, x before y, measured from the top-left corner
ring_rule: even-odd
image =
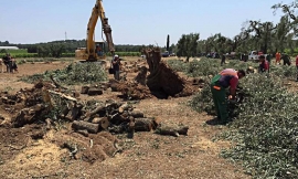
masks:
[[[287,70],[285,66],[284,71]],[[241,80],[241,86],[238,94],[244,98],[233,106],[228,129],[219,136],[235,143],[222,152],[223,157],[242,162],[246,172],[256,178],[295,178],[298,96],[287,91],[283,78],[267,74],[249,74]],[[210,86],[203,87],[190,105],[198,112],[215,115]]]

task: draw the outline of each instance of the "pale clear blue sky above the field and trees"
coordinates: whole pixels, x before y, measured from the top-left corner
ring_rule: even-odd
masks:
[[[289,3],[292,0],[284,0]],[[115,44],[177,43],[184,33],[200,39],[236,35],[246,20],[278,22],[279,0],[104,0]],[[95,0],[1,0],[0,41],[39,43],[86,38]],[[100,22],[96,40],[102,39]]]

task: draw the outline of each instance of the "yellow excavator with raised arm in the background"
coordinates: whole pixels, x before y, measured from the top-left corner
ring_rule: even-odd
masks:
[[[102,20],[102,29],[106,36],[106,42],[95,42],[95,27],[98,18]],[[102,38],[103,38],[102,32]],[[111,29],[108,24],[108,18],[105,15],[103,0],[96,0],[95,7],[93,8],[92,15],[87,27],[87,39],[86,48],[81,48],[75,51],[75,59],[83,60],[85,62],[96,62],[98,60],[106,60],[105,44],[107,43],[108,50],[114,56],[115,46],[111,39]]]

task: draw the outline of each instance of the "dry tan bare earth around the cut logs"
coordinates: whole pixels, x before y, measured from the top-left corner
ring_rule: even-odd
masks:
[[[23,75],[62,69],[67,63],[35,63],[19,65],[19,73],[0,74],[0,91],[15,93],[32,84],[19,82]],[[111,77],[111,76],[109,76]],[[75,87],[78,88],[78,87]],[[82,98],[87,98],[82,95]],[[97,99],[117,97],[117,93],[105,92]],[[0,127],[0,178],[251,178],[240,166],[219,156],[226,141],[212,138],[224,130],[223,126],[210,126],[205,122],[212,116],[199,114],[185,105],[190,97],[171,99],[143,99],[136,104],[147,116],[155,116],[162,123],[189,125],[188,136],[160,136],[153,133],[136,133],[134,140],[117,136],[124,144],[124,151],[114,158],[95,161],[66,159],[68,151],[54,141],[65,130],[44,131],[42,125],[26,125],[22,128]],[[7,110],[0,110],[11,117]],[[45,133],[43,139],[32,139],[29,134]],[[66,154],[66,155],[65,155]],[[66,158],[65,158],[66,156]]]

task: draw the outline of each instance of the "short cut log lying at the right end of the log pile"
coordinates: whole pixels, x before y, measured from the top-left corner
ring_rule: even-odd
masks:
[[[178,137],[179,135],[188,135],[189,126],[178,126],[178,125],[159,125],[156,129],[157,134],[170,135]]]

